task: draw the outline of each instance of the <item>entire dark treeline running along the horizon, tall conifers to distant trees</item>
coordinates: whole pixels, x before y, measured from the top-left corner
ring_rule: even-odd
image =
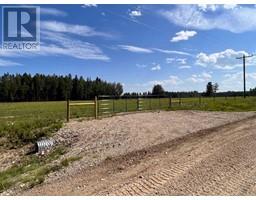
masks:
[[[208,83],[209,84],[209,83]],[[198,97],[201,96],[243,96],[241,91],[227,92],[206,92],[198,91],[169,92],[164,91],[160,85],[153,87],[152,91],[144,93],[124,93],[120,83],[110,83],[100,78],[91,80],[83,77],[42,75],[34,76],[24,73],[21,74],[4,74],[0,76],[0,101],[59,101],[59,100],[83,100],[93,99],[98,95],[111,95],[119,97],[136,97],[136,96],[168,96],[168,97]],[[122,95],[122,96],[121,96]],[[256,96],[256,88],[247,91],[247,96]],[[153,98],[154,96],[152,96]]]

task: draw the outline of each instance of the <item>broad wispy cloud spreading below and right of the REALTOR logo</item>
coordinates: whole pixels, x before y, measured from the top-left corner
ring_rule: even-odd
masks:
[[[59,29],[58,29],[59,30]],[[68,31],[43,27],[40,51],[0,51],[2,57],[69,56],[82,60],[109,61],[110,58],[96,45],[75,39]]]

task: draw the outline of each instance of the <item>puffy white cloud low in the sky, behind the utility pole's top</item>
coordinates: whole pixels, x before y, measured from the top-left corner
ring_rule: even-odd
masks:
[[[241,60],[237,60],[236,57],[240,57],[243,54],[248,55],[246,51],[235,51],[233,49],[226,49],[221,52],[212,54],[199,53],[196,56],[196,65],[202,67],[214,67],[217,69],[231,70],[237,67],[241,67]],[[248,58],[247,65],[256,64],[255,58]]]

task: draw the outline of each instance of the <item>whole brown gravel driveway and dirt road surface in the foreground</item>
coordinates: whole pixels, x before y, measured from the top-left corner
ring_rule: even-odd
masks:
[[[160,112],[72,122],[82,155],[22,195],[256,194],[254,113]],[[69,137],[68,137],[69,136]]]

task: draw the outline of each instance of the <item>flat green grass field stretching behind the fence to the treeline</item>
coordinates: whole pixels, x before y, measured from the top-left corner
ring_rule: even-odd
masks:
[[[256,97],[143,99],[139,110],[256,111]],[[78,101],[76,101],[78,102]],[[84,102],[84,101],[79,101]],[[74,102],[72,102],[74,103]],[[138,110],[137,99],[99,100],[99,116]],[[93,118],[93,105],[71,106],[70,117]],[[8,148],[34,142],[58,130],[66,120],[66,102],[0,103],[0,146]]]

